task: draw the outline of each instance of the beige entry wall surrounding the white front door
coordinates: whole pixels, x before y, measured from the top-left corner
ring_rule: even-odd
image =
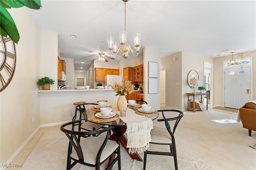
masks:
[[[234,59],[252,57],[252,100],[256,100],[256,51],[233,54]],[[214,105],[223,105],[223,61],[228,61],[232,55],[214,58]]]

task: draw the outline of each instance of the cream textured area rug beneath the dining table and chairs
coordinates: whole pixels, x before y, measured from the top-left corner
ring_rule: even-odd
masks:
[[[177,148],[178,169],[180,170],[214,170],[212,166],[200,160],[196,156],[188,153],[180,146]],[[156,149],[153,144],[150,149]],[[44,132],[26,161],[22,170],[64,170],[66,169],[66,159],[68,150],[68,138],[61,131]],[[161,150],[168,150],[168,147],[162,147]],[[140,154],[143,158],[143,153]],[[107,162],[107,161],[106,161]],[[106,165],[102,164],[100,169],[105,169]],[[76,164],[72,170],[94,170],[95,168]],[[112,170],[117,170],[117,162]],[[127,154],[126,150],[121,147],[121,169],[122,170],[142,170],[143,162],[133,160]],[[172,156],[148,155],[147,170],[170,170],[174,168]]]

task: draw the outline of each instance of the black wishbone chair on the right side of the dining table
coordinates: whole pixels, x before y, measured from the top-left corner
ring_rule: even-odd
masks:
[[[144,152],[143,160],[143,170],[146,169],[147,154],[156,154],[156,155],[167,155],[173,156],[175,170],[178,169],[177,163],[177,154],[176,154],[176,145],[174,140],[174,132],[180,119],[184,116],[182,111],[178,110],[158,110],[159,114],[162,113],[164,119],[158,119],[158,122],[164,122],[166,128],[154,126],[151,130],[151,141],[150,144],[160,144],[160,145],[169,145],[170,152],[163,151],[149,151]]]

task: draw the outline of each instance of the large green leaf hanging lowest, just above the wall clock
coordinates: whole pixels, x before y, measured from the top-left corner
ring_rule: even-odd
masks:
[[[13,42],[18,43],[20,40],[19,32],[16,28],[15,22],[12,16],[6,10],[6,8],[0,3],[0,35],[7,37],[7,35],[12,39]]]

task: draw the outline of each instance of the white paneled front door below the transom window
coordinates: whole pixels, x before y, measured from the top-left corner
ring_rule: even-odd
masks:
[[[224,107],[239,109],[250,101],[250,67],[225,69]]]

